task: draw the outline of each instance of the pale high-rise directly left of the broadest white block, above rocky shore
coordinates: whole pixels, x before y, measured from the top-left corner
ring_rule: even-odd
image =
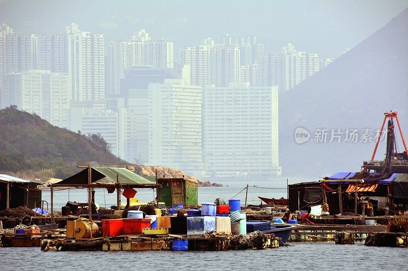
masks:
[[[201,86],[149,84],[149,164],[202,172]]]

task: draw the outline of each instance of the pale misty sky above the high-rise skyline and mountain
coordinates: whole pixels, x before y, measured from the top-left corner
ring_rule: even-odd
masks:
[[[256,35],[265,52],[293,43],[297,50],[338,57],[408,7],[387,1],[27,1],[0,0],[0,21],[14,32],[63,32],[70,22],[106,41],[127,39],[146,29],[172,39],[174,57],[183,46],[225,34]],[[100,28],[100,23],[117,28]]]

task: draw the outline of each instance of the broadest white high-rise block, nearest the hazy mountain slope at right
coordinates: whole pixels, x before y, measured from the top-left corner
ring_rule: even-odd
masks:
[[[276,86],[249,86],[248,82],[207,86],[202,112],[207,175],[281,175]]]

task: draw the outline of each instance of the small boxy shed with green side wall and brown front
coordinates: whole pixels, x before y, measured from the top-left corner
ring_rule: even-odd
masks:
[[[198,205],[198,182],[188,178],[158,178],[159,201],[170,207],[174,203],[184,206]]]

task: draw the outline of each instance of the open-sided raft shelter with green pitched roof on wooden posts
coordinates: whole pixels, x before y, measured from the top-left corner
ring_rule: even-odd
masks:
[[[53,191],[58,187],[74,187],[74,188],[87,188],[88,189],[88,211],[89,220],[92,220],[92,189],[94,188],[106,188],[108,191],[113,192],[116,189],[117,192],[117,206],[120,207],[120,193],[121,189],[126,188],[157,188],[160,184],[151,182],[150,180],[134,173],[127,168],[118,167],[92,167],[91,165],[82,167],[84,170],[72,175],[61,182],[51,184],[51,216],[54,219],[54,194]],[[107,178],[108,182],[98,182],[99,180]],[[129,200],[129,199],[128,199]]]

